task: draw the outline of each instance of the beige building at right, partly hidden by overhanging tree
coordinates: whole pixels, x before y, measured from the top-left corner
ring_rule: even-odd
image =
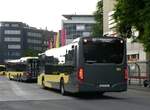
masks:
[[[113,19],[115,0],[103,0],[103,30],[104,34],[116,36],[116,22]],[[132,34],[138,36],[137,30],[132,30]],[[127,39],[127,59],[129,83],[142,84],[145,79],[150,79],[150,62],[143,45],[138,42],[132,43],[132,39]]]

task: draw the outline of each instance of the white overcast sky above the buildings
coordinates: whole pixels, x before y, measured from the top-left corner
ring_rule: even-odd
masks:
[[[0,0],[0,21],[57,31],[63,14],[93,14],[98,0]]]

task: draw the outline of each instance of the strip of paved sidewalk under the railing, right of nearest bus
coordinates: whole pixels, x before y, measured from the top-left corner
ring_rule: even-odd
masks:
[[[144,87],[143,85],[128,85],[128,89],[150,92],[150,87]]]

